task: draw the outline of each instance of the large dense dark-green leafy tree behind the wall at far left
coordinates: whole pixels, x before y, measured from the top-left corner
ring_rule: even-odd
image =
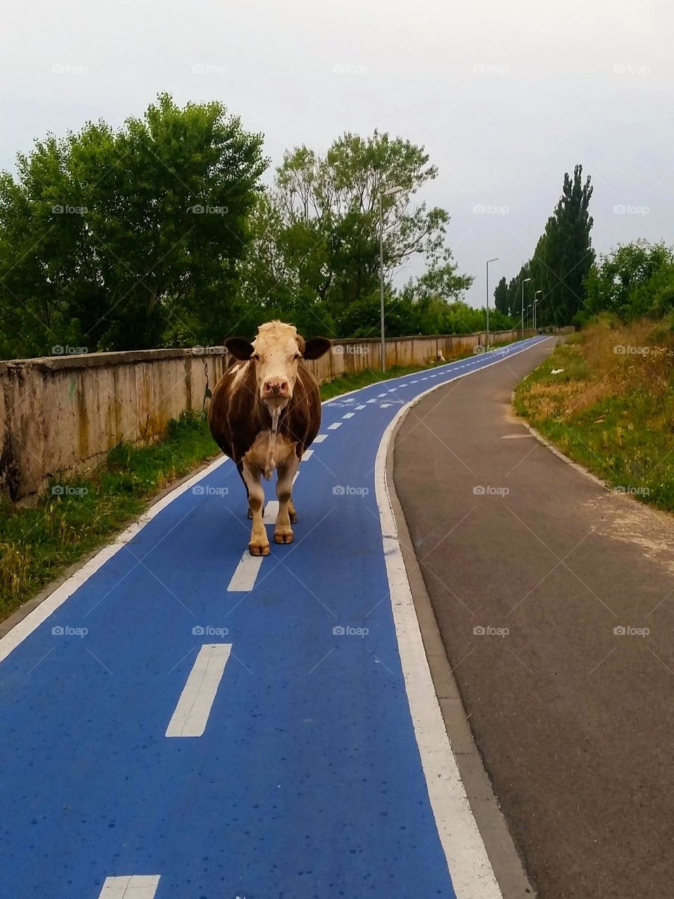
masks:
[[[219,102],[37,141],[0,177],[0,325],[11,354],[215,343],[266,167]],[[4,349],[0,347],[0,350]],[[10,354],[4,350],[5,355]]]

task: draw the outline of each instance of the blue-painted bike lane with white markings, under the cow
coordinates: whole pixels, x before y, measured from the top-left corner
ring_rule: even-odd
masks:
[[[537,343],[325,404],[291,546],[248,555],[220,458],[0,639],[2,899],[499,899],[383,472],[406,404]]]

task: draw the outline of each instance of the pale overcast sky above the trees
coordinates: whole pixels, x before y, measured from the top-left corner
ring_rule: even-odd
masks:
[[[484,260],[500,257],[491,288],[519,270],[579,162],[599,252],[638,236],[674,243],[673,8],[4,0],[0,168],[48,131],[119,125],[160,91],[225,102],[264,133],[274,165],[286,147],[386,130],[439,166],[424,199],[449,210],[448,243],[482,305]]]

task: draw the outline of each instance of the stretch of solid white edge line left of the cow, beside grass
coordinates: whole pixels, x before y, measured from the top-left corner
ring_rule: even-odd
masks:
[[[133,524],[129,525],[127,530],[123,530],[111,544],[107,547],[103,547],[92,559],[89,559],[79,571],[76,571],[75,574],[71,574],[67,581],[64,581],[58,586],[53,593],[50,593],[47,599],[40,602],[40,605],[36,606],[36,608],[26,615],[24,619],[15,624],[12,630],[0,639],[0,662],[6,659],[13,649],[22,643],[27,636],[30,636],[35,628],[39,628],[40,624],[49,618],[49,615],[60,608],[68,597],[73,595],[75,590],[88,581],[93,574],[96,574],[99,568],[102,568],[108,559],[111,559],[112,556],[116,556],[120,549],[125,547],[130,540],[136,537],[138,531],[142,530],[149,521],[152,521],[159,512],[163,512],[167,505],[173,503],[173,500],[177,500],[179,496],[182,496],[182,494],[191,490],[193,485],[199,484],[204,477],[208,477],[208,475],[217,468],[224,465],[228,458],[228,456],[217,458],[214,462],[211,462],[210,465],[185,481],[184,484],[177,486],[170,494],[166,494],[158,503],[155,503],[154,506],[148,509],[147,512],[143,512],[137,521],[134,521]]]

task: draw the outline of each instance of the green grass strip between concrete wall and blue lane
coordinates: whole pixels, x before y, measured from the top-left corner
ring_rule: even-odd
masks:
[[[438,364],[444,363],[338,378],[321,385],[321,397],[331,399]],[[0,498],[0,620],[137,519],[158,491],[217,452],[204,418],[183,413],[180,421],[169,423],[164,441],[147,447],[120,443],[87,476],[54,480],[34,506],[16,508]]]

